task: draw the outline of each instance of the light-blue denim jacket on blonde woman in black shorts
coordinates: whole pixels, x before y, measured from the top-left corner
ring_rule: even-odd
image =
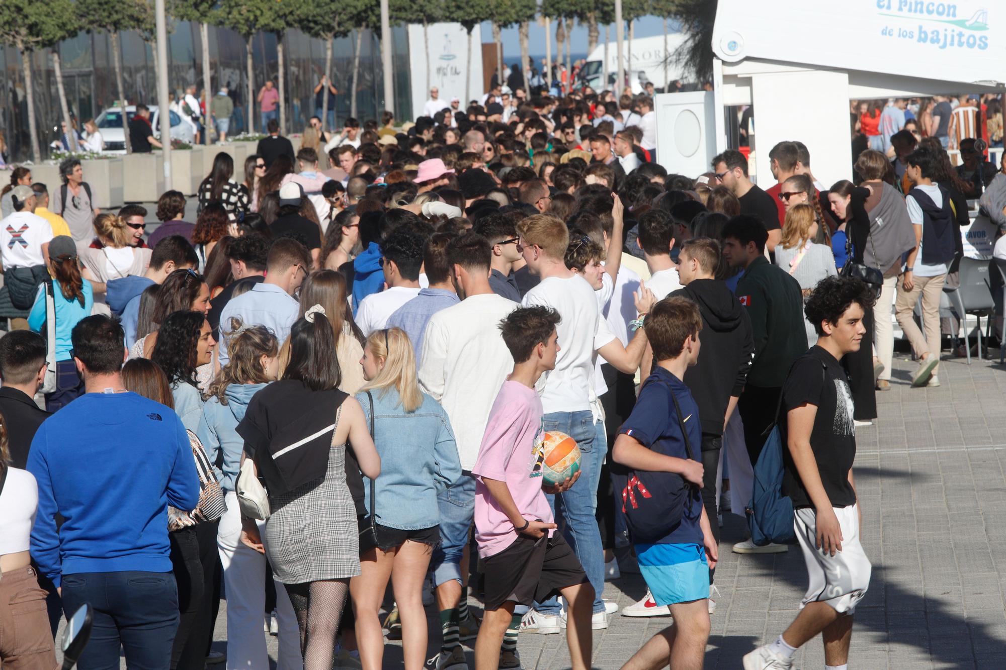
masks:
[[[377,523],[399,530],[418,530],[440,523],[437,493],[461,477],[454,431],[440,403],[423,394],[423,404],[405,413],[394,387],[370,391],[374,399],[374,444],[380,455],[375,482]],[[356,394],[367,425],[366,392]],[[363,478],[364,500],[370,504],[370,480]]]

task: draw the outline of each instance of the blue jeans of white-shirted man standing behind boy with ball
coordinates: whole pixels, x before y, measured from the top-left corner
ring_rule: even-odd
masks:
[[[591,411],[584,410],[553,411],[545,414],[541,424],[544,431],[565,433],[579,446],[579,479],[568,491],[548,496],[548,503],[556,523],[559,523],[562,534],[594,587],[594,612],[604,612],[601,594],[605,591],[605,552],[601,546],[601,531],[595,511],[598,509],[601,464],[608,452],[605,423],[595,423]],[[535,609],[543,614],[557,615],[558,599],[551,598],[536,605]]]

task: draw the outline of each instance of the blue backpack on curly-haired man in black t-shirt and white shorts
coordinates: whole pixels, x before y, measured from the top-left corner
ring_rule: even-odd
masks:
[[[821,374],[825,374],[824,363],[821,363]],[[783,493],[785,447],[779,428],[779,411],[782,407],[783,394],[780,392],[776,422],[770,428],[769,438],[754,464],[751,500],[744,508],[751,543],[756,546],[797,543],[797,534],[793,530],[793,500]]]

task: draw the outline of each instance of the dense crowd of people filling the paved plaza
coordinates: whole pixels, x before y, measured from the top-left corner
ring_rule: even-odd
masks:
[[[855,427],[890,387],[892,308],[912,385],[940,383],[967,216],[946,149],[866,149],[826,188],[780,142],[763,189],[736,150],[668,174],[646,95],[502,96],[315,118],[296,153],[267,119],[243,166],[216,156],[194,223],[167,191],[149,235],[144,207],[94,206],[75,159],[51,204],[11,172],[0,593],[24,607],[0,615],[4,663],[52,667],[88,602],[85,670],[120,647],[267,668],[270,629],[281,670],[379,668],[385,637],[411,670],[429,639],[435,670],[465,646],[519,668],[519,634],[563,629],[583,669],[618,611],[606,580],[641,572],[622,614],[673,619],[625,667],[701,667],[722,515],[778,423],[810,587],[744,668],[790,668],[819,633],[846,667],[870,576]],[[579,469],[548,483],[555,433]]]

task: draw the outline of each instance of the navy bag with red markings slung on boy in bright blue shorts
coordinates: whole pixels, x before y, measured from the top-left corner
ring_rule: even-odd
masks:
[[[655,382],[650,381],[649,383]],[[696,458],[691,441],[688,439],[688,431],[681,418],[678,398],[674,396],[674,392],[670,388],[667,389],[667,392],[674,402],[678,427],[681,429],[688,457],[692,461],[701,462],[701,457]],[[694,418],[697,421],[698,416],[696,415]],[[659,442],[654,443],[650,449],[658,454],[671,456],[671,454],[666,453]],[[622,492],[622,511],[626,515],[626,525],[634,543],[656,542],[669,535],[681,524],[685,505],[694,491],[694,485],[685,480],[684,477],[669,472],[633,470],[613,472],[612,476],[615,480],[615,490]]]

